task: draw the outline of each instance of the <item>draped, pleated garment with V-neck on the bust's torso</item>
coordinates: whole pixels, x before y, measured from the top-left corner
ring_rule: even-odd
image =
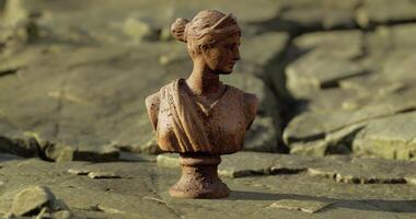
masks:
[[[224,93],[210,108],[201,107],[194,94],[185,90],[184,79],[161,88],[157,138],[163,151],[207,152],[239,151],[254,115],[247,114],[244,92],[226,85]]]

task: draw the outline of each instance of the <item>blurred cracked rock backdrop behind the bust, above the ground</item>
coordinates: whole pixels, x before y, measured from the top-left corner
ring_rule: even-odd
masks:
[[[49,161],[159,153],[143,99],[192,69],[169,25],[210,5],[244,30],[243,58],[223,81],[261,101],[245,150],[414,158],[412,143],[365,135],[416,108],[414,1],[2,2],[3,152]],[[386,136],[415,137],[392,124]]]

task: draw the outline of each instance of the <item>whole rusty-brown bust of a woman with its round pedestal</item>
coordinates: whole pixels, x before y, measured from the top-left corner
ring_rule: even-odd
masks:
[[[146,99],[159,147],[181,155],[182,176],[170,194],[227,197],[230,189],[217,174],[220,154],[242,149],[258,105],[254,94],[219,79],[231,73],[240,59],[241,30],[232,14],[205,10],[192,21],[176,19],[171,32],[186,43],[193,71]]]

